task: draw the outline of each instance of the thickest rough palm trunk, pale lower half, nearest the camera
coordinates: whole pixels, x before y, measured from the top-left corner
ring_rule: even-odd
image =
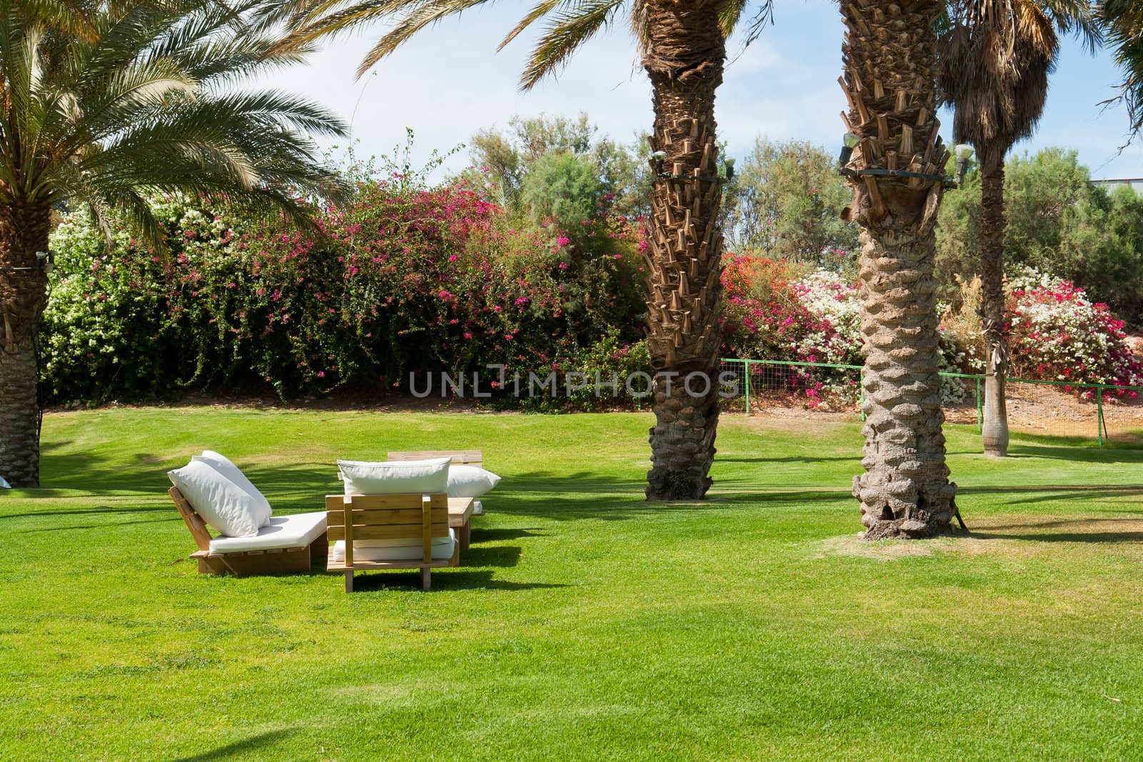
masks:
[[[842,46],[849,99],[846,127],[860,143],[847,165],[928,177],[850,174],[861,224],[865,368],[865,473],[854,478],[866,539],[930,537],[950,530],[957,486],[949,482],[933,258],[938,176],[948,160],[938,135],[933,21],[935,0],[844,0]]]

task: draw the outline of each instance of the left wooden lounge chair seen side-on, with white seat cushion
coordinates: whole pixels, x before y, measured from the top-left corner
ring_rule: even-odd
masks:
[[[325,515],[320,512],[273,516],[257,537],[211,537],[207,522],[178,488],[167,492],[199,546],[191,558],[199,562],[200,575],[305,573],[326,555]]]

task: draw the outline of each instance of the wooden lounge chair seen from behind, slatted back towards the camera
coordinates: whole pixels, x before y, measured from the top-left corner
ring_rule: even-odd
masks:
[[[445,494],[327,495],[326,516],[326,569],[345,572],[346,593],[353,592],[354,571],[421,569],[421,586],[427,591],[432,569],[459,563],[461,544],[448,529]],[[360,540],[357,547],[354,540]],[[383,540],[386,546],[362,547],[381,545],[369,540]]]

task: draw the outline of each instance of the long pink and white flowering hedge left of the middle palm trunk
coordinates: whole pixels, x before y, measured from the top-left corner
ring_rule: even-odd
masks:
[[[584,222],[588,246],[514,230],[463,185],[397,177],[363,181],[353,203],[317,216],[315,234],[177,198],[154,207],[165,259],[125,234],[107,255],[82,214],[54,234],[43,336],[56,400],[385,393],[410,372],[486,363],[580,370],[642,336],[639,226],[606,210]]]

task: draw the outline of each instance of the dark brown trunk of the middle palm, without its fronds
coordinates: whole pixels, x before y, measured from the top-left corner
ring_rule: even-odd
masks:
[[[722,202],[714,93],[726,40],[719,2],[655,0],[646,7],[644,67],[655,106],[652,145],[665,151],[652,186],[649,348],[655,426],[647,499],[700,499],[711,486],[718,426],[718,315]]]

